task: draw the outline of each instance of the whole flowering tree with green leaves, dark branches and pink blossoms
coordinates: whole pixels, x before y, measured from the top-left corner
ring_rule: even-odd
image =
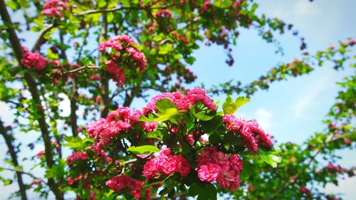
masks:
[[[280,148],[273,147],[257,122],[234,117],[249,98],[229,97],[219,111],[204,90],[186,89],[197,78],[189,65],[201,43],[222,46],[231,66],[230,46],[242,28],[257,30],[263,40],[277,45],[276,34],[296,33],[293,25],[257,14],[256,9],[253,0],[0,0],[0,100],[15,115],[11,126],[0,122],[9,148],[9,167],[0,171],[16,172],[20,189],[14,195],[27,199],[26,190],[32,188],[43,197],[51,191],[56,199],[73,194],[78,199],[216,199],[218,193],[236,199],[330,199],[314,184],[337,183],[345,172],[353,175],[353,169],[332,163],[325,168],[320,157],[334,163],[335,149],[352,147],[356,140],[355,75],[340,83],[343,89],[324,121],[325,132],[315,133],[301,146]],[[14,12],[20,13],[19,21],[11,19]],[[29,32],[38,36],[31,49],[21,45],[21,37]],[[303,51],[306,43],[300,41]],[[325,62],[341,70],[355,59],[350,58],[353,46],[355,41],[349,39],[315,55],[304,51],[302,58],[280,63],[244,86],[229,80],[202,88],[214,95],[249,97]],[[152,91],[160,95],[142,110],[128,108],[135,98],[147,100]],[[69,116],[61,115],[59,108],[66,98]],[[35,132],[41,133],[36,142],[44,149],[33,158],[38,164],[31,170],[44,169],[43,177],[24,172],[19,161],[26,148],[19,138]],[[202,162],[209,151],[224,162]],[[64,156],[68,152],[73,153]],[[156,169],[156,160],[167,166]],[[24,182],[23,175],[33,182]]]

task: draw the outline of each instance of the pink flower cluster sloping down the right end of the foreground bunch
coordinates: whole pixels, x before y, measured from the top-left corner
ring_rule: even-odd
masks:
[[[255,120],[246,122],[246,120],[239,119],[234,115],[224,115],[222,119],[227,130],[242,135],[248,150],[256,152],[258,144],[264,147],[273,146],[270,136],[261,130]]]

